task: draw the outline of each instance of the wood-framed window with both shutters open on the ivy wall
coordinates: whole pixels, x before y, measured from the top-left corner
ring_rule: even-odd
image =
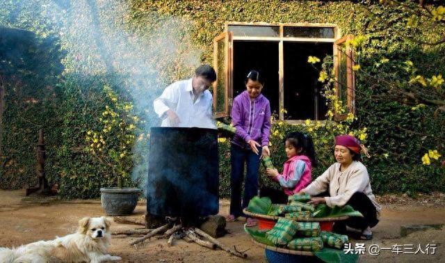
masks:
[[[323,120],[327,112],[323,84],[307,57],[327,55],[334,55],[338,95],[353,112],[353,54],[344,47],[346,38],[337,35],[332,24],[226,24],[226,32],[213,40],[216,118],[230,114],[233,97],[245,90],[244,77],[254,69],[264,73],[263,94],[280,120]]]

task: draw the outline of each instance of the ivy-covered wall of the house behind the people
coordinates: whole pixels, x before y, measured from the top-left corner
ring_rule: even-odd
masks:
[[[225,22],[337,24],[343,35],[369,36],[360,63],[375,74],[392,72],[391,65],[408,59],[424,74],[445,72],[444,63],[437,59],[444,57],[443,47],[407,44],[396,34],[383,33],[375,17],[354,2],[2,1],[0,26],[34,32],[36,41],[48,42],[53,53],[38,62],[42,74],[47,76],[45,81],[25,79],[21,68],[10,69],[6,76],[1,188],[33,184],[33,149],[40,127],[46,130],[47,175],[51,182],[58,183],[60,196],[93,198],[99,195],[100,187],[115,185],[109,167],[86,150],[87,132],[102,128],[101,114],[111,105],[104,95],[104,85],[111,86],[122,101],[135,104],[135,111],[145,124],[135,131],[133,151],[146,151],[147,145],[138,144],[137,138],[144,128],[159,124],[152,112],[152,99],[168,83],[190,77],[196,65],[213,63],[212,40],[223,31]],[[374,8],[382,17],[401,17],[394,10]],[[405,30],[403,19],[398,23],[396,30]],[[390,58],[391,63],[376,67],[375,63],[383,57]],[[57,63],[63,65],[63,71],[47,67]],[[27,70],[34,71],[35,68]],[[394,78],[403,77],[403,72],[394,73]],[[412,111],[396,102],[375,99],[378,93],[357,73],[357,120],[350,127],[367,128],[366,145],[372,158],[364,162],[375,192],[445,191],[444,168],[422,166],[420,161],[422,154],[438,142],[444,147],[444,116],[433,118],[428,110]],[[35,102],[30,103],[30,97]],[[280,134],[291,129],[307,131],[308,127],[281,124],[275,129],[278,132],[272,136],[273,161],[280,167],[284,161]],[[332,136],[318,135],[314,134],[314,138],[323,143],[317,148],[321,166],[314,170],[315,177],[334,161]],[[229,143],[222,142],[220,146],[220,190],[221,196],[228,196]],[[144,177],[143,163],[144,159],[124,170],[131,173],[135,168],[133,177]],[[263,175],[261,182],[271,184]]]

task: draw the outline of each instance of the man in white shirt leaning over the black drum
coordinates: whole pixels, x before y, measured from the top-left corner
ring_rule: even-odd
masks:
[[[216,81],[210,65],[201,65],[191,79],[177,81],[154,100],[154,111],[163,119],[161,127],[199,127],[216,129],[212,118],[213,98],[209,92]]]

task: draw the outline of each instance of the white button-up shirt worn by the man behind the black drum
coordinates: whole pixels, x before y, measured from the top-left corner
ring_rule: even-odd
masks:
[[[213,98],[209,90],[204,90],[195,102],[194,97],[192,79],[177,81],[165,88],[153,102],[154,111],[163,118],[161,127],[173,127],[165,114],[171,109],[179,117],[179,124],[175,127],[216,129],[211,111]]]

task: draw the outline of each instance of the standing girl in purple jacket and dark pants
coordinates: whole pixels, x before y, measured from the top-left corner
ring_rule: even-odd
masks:
[[[230,215],[227,221],[235,221],[243,216],[243,208],[247,207],[250,199],[258,193],[259,161],[263,156],[270,154],[270,104],[268,99],[261,95],[264,86],[262,75],[256,70],[250,70],[245,78],[245,88],[234,99],[232,107],[232,124],[236,128],[232,140],[231,163],[231,198]],[[261,152],[261,156],[260,156]],[[247,175],[244,183],[244,197],[241,203],[241,184],[244,177],[244,164],[247,166]],[[247,219],[248,225],[255,225],[253,218]]]

